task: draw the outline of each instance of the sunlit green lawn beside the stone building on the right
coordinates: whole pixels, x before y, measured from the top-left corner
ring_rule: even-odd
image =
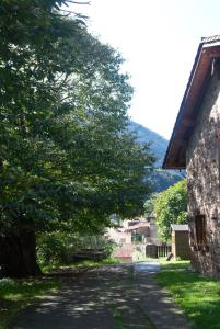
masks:
[[[192,273],[187,261],[162,263],[155,280],[181,305],[193,328],[220,328],[220,281]]]

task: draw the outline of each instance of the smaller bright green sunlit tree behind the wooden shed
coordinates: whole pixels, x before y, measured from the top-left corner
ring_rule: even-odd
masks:
[[[157,194],[153,201],[153,213],[159,227],[159,235],[163,241],[171,239],[171,224],[187,222],[187,186],[182,180]]]

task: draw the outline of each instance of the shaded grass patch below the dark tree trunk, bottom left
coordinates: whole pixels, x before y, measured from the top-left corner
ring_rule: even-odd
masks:
[[[0,329],[8,328],[11,320],[37,297],[54,293],[60,286],[57,279],[0,280]]]

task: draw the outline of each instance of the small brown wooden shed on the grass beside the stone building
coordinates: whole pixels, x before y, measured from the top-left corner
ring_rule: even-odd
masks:
[[[188,243],[188,225],[172,224],[171,225],[172,249],[174,259],[190,259],[190,250]]]

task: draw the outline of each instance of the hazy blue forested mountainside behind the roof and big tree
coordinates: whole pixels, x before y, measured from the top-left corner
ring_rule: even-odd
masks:
[[[185,177],[185,171],[161,169],[169,144],[165,138],[134,121],[129,122],[129,131],[137,134],[138,140],[141,144],[150,143],[150,149],[157,158],[153,172],[150,175],[154,192],[161,192]]]

